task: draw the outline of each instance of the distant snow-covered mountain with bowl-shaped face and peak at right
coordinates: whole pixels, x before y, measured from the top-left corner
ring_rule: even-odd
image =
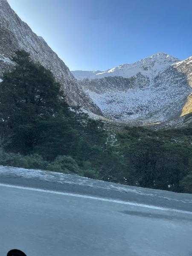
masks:
[[[86,73],[73,71],[76,74],[80,78]],[[180,61],[160,52],[133,64],[90,74],[91,79],[81,76],[79,82],[108,118],[166,122],[192,111],[192,57]]]

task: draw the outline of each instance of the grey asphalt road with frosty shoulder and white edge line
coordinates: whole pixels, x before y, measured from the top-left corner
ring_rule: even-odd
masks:
[[[0,167],[0,255],[192,256],[192,195]]]

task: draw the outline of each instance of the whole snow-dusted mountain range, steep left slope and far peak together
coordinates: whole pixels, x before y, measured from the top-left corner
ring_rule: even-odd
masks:
[[[183,124],[192,112],[192,57],[184,61],[163,52],[106,71],[71,71],[9,6],[0,0],[0,78],[14,65],[17,49],[52,71],[67,102],[96,118],[130,124]],[[177,121],[179,119],[179,121]],[[172,122],[173,120],[176,120]],[[175,125],[177,127],[177,125]]]

